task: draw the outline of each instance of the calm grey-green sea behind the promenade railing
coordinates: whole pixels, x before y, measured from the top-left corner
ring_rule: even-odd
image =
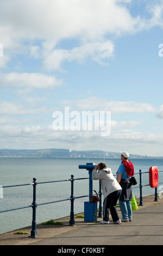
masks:
[[[139,170],[142,170],[142,185],[149,184],[148,170],[157,166],[163,170],[163,159],[130,159],[134,164],[137,185],[133,186],[134,195],[139,198]],[[120,159],[91,158],[45,158],[45,157],[0,157],[1,198],[0,211],[31,205],[33,202],[33,185],[3,187],[6,185],[30,184],[36,178],[36,203],[46,203],[67,199],[71,196],[71,175],[74,179],[89,178],[89,171],[79,169],[80,164],[105,162],[116,175],[121,164]],[[42,183],[45,181],[59,181]],[[163,172],[159,173],[159,182],[163,182]],[[93,181],[93,190],[99,191],[99,181]],[[155,188],[142,187],[143,197],[155,193]],[[159,191],[158,191],[159,193]],[[89,195],[89,179],[74,180],[74,197]],[[84,212],[84,202],[89,197],[74,200],[74,214]],[[70,216],[70,200],[52,204],[38,205],[36,223],[56,220]],[[24,208],[0,213],[0,234],[32,225],[32,208]]]

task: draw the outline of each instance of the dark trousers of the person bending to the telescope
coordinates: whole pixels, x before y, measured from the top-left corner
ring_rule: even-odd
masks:
[[[112,220],[118,221],[119,216],[116,209],[116,204],[118,198],[121,196],[122,190],[117,190],[110,193],[105,199],[103,203],[103,221],[109,221],[109,211],[112,217]]]

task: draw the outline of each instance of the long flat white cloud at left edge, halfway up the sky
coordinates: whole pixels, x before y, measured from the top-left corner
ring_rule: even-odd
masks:
[[[61,80],[57,80],[55,76],[47,76],[38,73],[16,73],[1,74],[1,86],[14,86],[19,88],[47,88],[60,86]]]

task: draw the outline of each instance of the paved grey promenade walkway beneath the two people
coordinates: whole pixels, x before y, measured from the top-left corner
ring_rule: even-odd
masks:
[[[153,202],[154,196],[143,198],[143,206],[133,212],[133,222],[115,225],[85,223],[74,218],[76,225],[67,224],[70,216],[61,218],[63,225],[37,225],[37,235],[15,235],[14,231],[0,235],[0,245],[163,245],[163,199]],[[121,217],[121,211],[118,211]],[[30,233],[31,227],[22,231]]]

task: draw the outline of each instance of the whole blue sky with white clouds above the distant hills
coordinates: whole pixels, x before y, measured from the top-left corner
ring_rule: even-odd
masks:
[[[0,148],[163,156],[162,32],[162,0],[1,0]]]

